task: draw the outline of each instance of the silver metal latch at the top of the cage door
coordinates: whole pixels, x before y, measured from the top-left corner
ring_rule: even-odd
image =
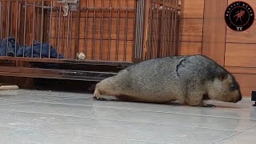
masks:
[[[57,1],[57,3],[63,4],[63,11],[64,14],[63,16],[66,17],[67,14],[69,14],[69,11],[76,11],[78,10],[78,1],[79,0],[62,0],[62,1]]]

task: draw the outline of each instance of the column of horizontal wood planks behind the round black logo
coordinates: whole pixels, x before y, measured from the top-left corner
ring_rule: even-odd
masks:
[[[236,0],[228,0],[228,4]],[[256,1],[244,0],[254,9]],[[255,12],[255,11],[254,11]],[[256,50],[256,23],[245,31],[234,31],[226,26],[226,54],[225,67],[238,80],[242,95],[250,97],[251,91],[255,90],[256,80],[256,58],[254,56]]]

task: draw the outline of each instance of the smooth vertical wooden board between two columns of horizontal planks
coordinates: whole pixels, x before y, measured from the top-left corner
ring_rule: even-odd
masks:
[[[224,65],[227,0],[205,0],[202,54]]]

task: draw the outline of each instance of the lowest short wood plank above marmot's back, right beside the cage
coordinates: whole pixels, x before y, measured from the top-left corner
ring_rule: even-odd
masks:
[[[179,55],[201,54],[202,42],[180,42]]]

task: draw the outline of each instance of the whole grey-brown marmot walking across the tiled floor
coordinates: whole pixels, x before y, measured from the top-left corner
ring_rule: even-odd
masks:
[[[242,100],[234,76],[203,55],[155,58],[127,66],[96,84],[94,99],[104,99],[102,95],[129,102],[178,101],[189,106],[214,106],[202,102],[207,99]]]

